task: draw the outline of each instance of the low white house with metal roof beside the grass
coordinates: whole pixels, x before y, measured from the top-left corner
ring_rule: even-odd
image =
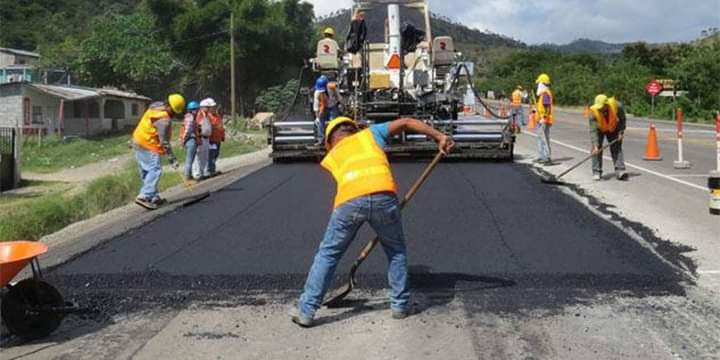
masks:
[[[0,84],[0,128],[25,134],[96,136],[137,124],[150,98],[115,88]]]

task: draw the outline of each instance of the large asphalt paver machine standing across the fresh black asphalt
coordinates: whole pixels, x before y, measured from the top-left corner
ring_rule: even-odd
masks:
[[[334,41],[321,40],[310,61],[314,77],[324,74],[337,82],[342,114],[366,125],[413,117],[453,137],[450,157],[512,159],[509,117],[489,107],[494,116],[464,111],[468,89],[477,98],[470,66],[461,61],[450,36],[432,33],[427,1],[355,1],[352,14],[358,12],[364,13],[367,28],[359,51],[343,52]],[[289,106],[295,110],[269,124],[274,160],[324,155],[316,145],[312,89],[298,93]],[[410,156],[431,156],[436,150],[431,139],[413,133],[396,136],[386,147],[390,154]]]

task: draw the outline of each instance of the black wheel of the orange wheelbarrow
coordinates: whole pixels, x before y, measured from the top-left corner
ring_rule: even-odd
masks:
[[[63,304],[62,295],[52,285],[25,279],[9,287],[0,311],[11,334],[32,340],[46,337],[60,326],[65,315],[51,308]]]

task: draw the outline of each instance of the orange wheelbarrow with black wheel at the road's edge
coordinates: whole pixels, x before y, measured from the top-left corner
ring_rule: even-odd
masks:
[[[37,257],[47,252],[47,245],[37,241],[0,242],[0,313],[8,331],[24,339],[50,335],[65,315],[77,306],[63,301],[60,292],[42,280]],[[33,276],[10,284],[27,264]]]

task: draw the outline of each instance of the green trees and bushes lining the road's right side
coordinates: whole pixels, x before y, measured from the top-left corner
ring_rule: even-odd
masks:
[[[673,79],[687,95],[676,103],[672,97],[656,98],[655,116],[671,119],[679,106],[688,120],[712,122],[720,110],[720,41],[710,41],[715,38],[680,45],[629,44],[621,55],[519,49],[481,68],[476,84],[480,91],[509,96],[517,85],[534,89],[535,78],[545,72],[552,77],[560,105],[588,105],[595,95],[605,93],[616,96],[630,113],[647,116],[651,99],[645,84],[651,79]]]

